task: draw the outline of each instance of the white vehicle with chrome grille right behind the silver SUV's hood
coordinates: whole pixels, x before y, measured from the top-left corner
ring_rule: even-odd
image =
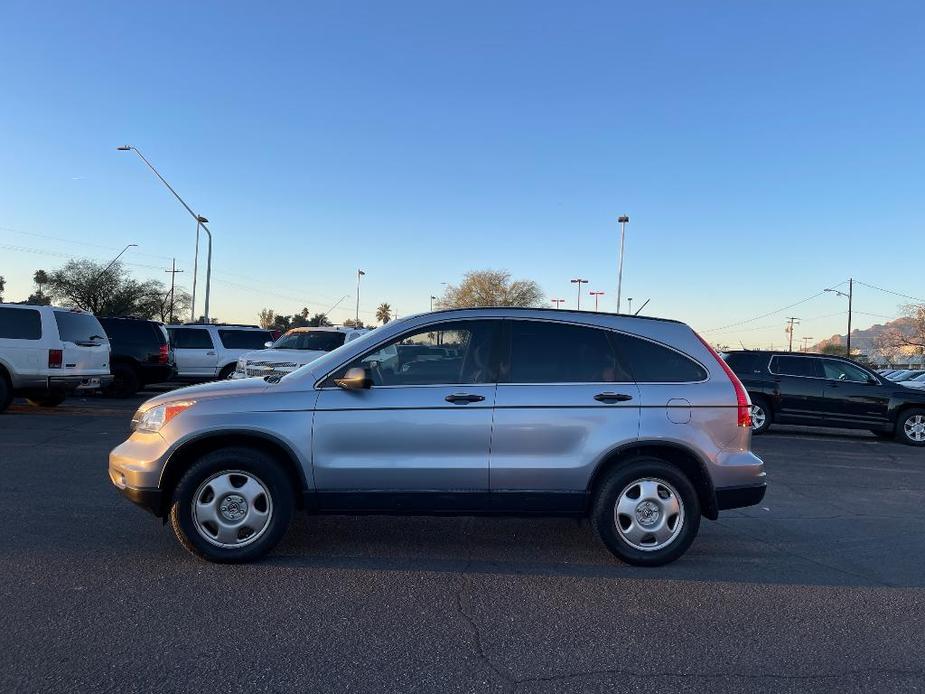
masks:
[[[293,328],[276,342],[267,343],[267,349],[238,357],[231,378],[284,376],[368,332],[365,328],[341,326]]]

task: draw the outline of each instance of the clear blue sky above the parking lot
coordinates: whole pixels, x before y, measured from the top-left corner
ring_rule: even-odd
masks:
[[[8,1],[0,25],[8,299],[130,242],[189,285],[195,225],[123,143],[212,221],[225,320],[349,294],[342,320],[357,267],[366,319],[486,267],[613,310],[624,212],[624,296],[700,330],[849,276],[925,294],[919,2]],[[844,310],[709,335],[818,339]]]

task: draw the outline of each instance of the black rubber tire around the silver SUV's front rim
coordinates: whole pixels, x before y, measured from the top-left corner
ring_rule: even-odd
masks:
[[[236,541],[247,544],[220,547],[214,544],[215,540],[210,542],[203,536],[206,530],[200,531],[197,528],[193,511],[194,496],[215,475],[229,473],[235,477],[236,472],[246,473],[263,485],[269,497],[265,499],[264,506],[269,509],[270,516],[256,539],[245,537]],[[207,486],[204,493],[209,492]],[[257,505],[253,507],[257,508]],[[289,527],[294,507],[294,490],[289,477],[272,456],[252,448],[221,448],[200,458],[180,479],[170,505],[170,527],[180,544],[197,557],[221,564],[238,564],[259,559],[276,546]],[[239,524],[240,531],[246,531],[247,521],[245,517]],[[228,527],[235,526],[229,523]]]

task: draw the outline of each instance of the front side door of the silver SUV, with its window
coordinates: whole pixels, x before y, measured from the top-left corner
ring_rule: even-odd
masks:
[[[487,500],[498,320],[416,328],[321,387],[312,453],[326,508],[476,510]],[[370,387],[334,379],[366,370]]]

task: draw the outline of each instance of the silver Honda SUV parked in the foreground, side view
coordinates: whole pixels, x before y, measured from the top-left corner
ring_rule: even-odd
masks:
[[[750,403],[683,323],[484,308],[371,331],[283,377],[153,398],[113,484],[190,552],[260,557],[294,509],[587,516],[631,564],[757,504]]]

